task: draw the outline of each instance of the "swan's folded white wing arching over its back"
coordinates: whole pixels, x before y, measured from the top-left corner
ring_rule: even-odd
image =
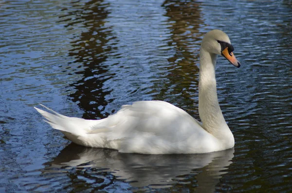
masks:
[[[88,133],[97,133],[104,127],[117,133],[146,132],[159,136],[184,135],[202,129],[198,120],[164,101],[138,101],[124,105],[116,114],[93,125]]]

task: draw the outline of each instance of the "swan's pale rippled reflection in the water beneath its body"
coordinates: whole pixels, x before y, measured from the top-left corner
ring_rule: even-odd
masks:
[[[207,154],[142,155],[71,144],[41,171],[44,177],[52,175],[52,170],[65,173],[71,188],[90,182],[99,183],[94,189],[99,190],[105,185],[102,179],[107,172],[139,188],[166,188],[182,183],[191,184],[197,191],[214,192],[219,178],[232,163],[233,153],[232,148]]]

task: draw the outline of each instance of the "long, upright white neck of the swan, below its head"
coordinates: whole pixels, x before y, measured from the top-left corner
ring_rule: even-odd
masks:
[[[199,73],[199,115],[202,127],[215,137],[223,137],[228,128],[221,112],[216,88],[215,66],[217,55],[201,48]]]

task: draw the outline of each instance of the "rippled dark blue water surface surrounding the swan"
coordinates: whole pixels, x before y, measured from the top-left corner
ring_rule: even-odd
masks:
[[[199,48],[226,32],[218,96],[233,149],[121,154],[70,144],[33,106],[99,119],[137,100],[198,115]],[[292,1],[0,1],[0,192],[291,192]]]

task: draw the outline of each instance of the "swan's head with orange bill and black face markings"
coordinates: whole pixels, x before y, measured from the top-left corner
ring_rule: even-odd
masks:
[[[240,67],[240,63],[233,54],[234,48],[231,45],[228,35],[221,30],[212,30],[206,33],[202,40],[201,48],[209,53],[221,55],[231,64],[238,68]]]

